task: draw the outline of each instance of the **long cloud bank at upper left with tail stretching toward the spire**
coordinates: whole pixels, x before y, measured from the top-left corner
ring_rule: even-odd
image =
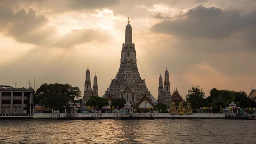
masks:
[[[32,8],[13,12],[4,5],[0,5],[0,28],[18,42],[58,48],[73,48],[94,40],[105,42],[109,38],[106,30],[94,29],[76,29],[60,37],[57,35],[57,26],[48,25],[48,19],[36,15]]]

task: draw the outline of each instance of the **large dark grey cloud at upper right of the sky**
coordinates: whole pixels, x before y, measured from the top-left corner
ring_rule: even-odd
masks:
[[[152,29],[154,32],[190,38],[230,38],[236,37],[237,32],[254,30],[256,28],[255,16],[256,12],[241,14],[237,10],[224,11],[220,8],[206,8],[200,5],[172,19],[162,21],[154,25]],[[254,32],[248,34],[256,37]]]

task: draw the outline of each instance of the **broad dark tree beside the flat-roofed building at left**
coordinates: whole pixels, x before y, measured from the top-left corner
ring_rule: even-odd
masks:
[[[64,106],[68,106],[68,102],[80,97],[81,91],[78,87],[72,87],[69,84],[45,83],[36,90],[34,102],[46,108],[64,110]]]

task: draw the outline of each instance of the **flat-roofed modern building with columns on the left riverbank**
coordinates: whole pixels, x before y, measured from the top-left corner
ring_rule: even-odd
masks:
[[[33,88],[0,85],[0,114],[24,114],[26,104],[33,104],[34,92]]]

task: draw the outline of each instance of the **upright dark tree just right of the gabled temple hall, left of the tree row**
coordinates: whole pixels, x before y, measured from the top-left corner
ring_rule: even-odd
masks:
[[[204,92],[200,86],[193,85],[190,90],[188,90],[188,94],[186,94],[186,101],[191,103],[191,108],[194,111],[199,109],[200,106],[204,105]]]

